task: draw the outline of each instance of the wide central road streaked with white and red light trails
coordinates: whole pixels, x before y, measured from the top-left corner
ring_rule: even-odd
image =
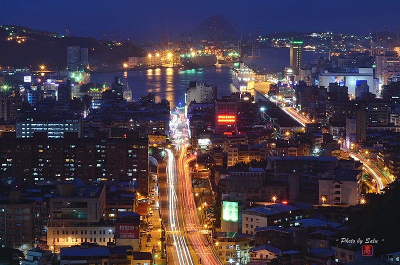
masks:
[[[168,264],[221,265],[208,234],[200,231],[197,208],[189,175],[189,163],[195,155],[186,157],[187,124],[179,113],[171,114],[170,131],[174,148],[165,149],[166,174],[158,179],[160,212],[166,232]],[[194,231],[187,233],[187,231]]]

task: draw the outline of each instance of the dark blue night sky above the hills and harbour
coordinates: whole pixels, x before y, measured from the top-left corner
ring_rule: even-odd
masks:
[[[271,33],[324,30],[368,34],[368,28],[395,32],[398,0],[1,0],[1,24],[19,24],[59,33],[101,38],[118,30],[136,41],[161,39],[161,30],[179,36],[221,13],[238,28]],[[393,10],[393,11],[390,11]],[[240,31],[240,29],[238,29]]]

